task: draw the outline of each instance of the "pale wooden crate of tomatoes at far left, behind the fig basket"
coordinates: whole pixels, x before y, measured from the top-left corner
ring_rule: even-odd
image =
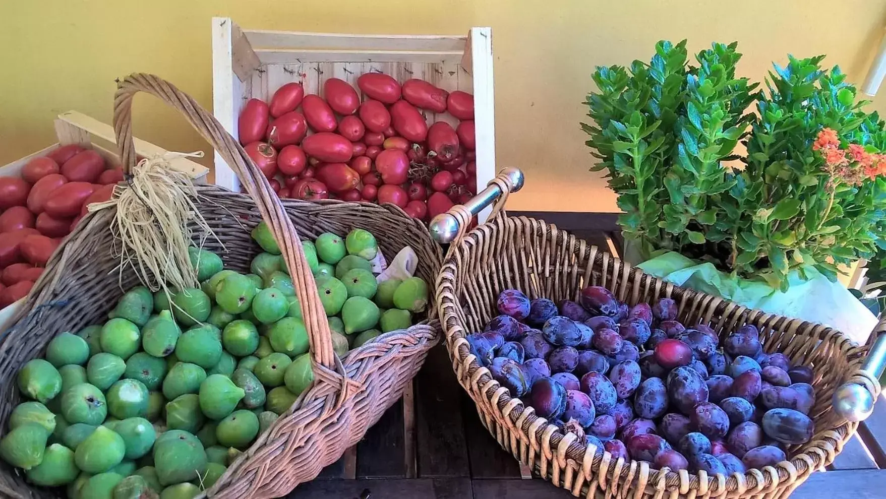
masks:
[[[113,127],[106,125],[101,121],[90,118],[86,114],[77,113],[76,111],[68,111],[58,115],[58,119],[54,122],[58,143],[52,144],[33,154],[28,154],[20,160],[12,161],[3,167],[0,167],[0,176],[19,176],[21,168],[33,158],[45,156],[50,152],[58,149],[62,145],[81,144],[101,154],[109,164],[119,164],[120,156],[114,149],[114,132]],[[136,145],[136,153],[151,158],[153,156],[162,155],[167,152],[166,149],[157,145],[145,142],[144,140],[133,138]],[[195,163],[187,158],[174,158],[169,160],[172,168],[188,173],[194,182],[205,183],[206,174],[209,168]],[[12,317],[19,308],[23,300],[19,300],[9,307],[0,309],[0,331],[4,331],[4,324]]]

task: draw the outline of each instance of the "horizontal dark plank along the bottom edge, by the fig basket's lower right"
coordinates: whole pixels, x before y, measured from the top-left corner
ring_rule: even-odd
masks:
[[[314,480],[290,499],[471,499],[470,479]]]

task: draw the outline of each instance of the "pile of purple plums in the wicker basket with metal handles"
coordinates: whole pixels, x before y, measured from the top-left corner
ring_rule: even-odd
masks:
[[[812,438],[812,369],[766,354],[744,325],[720,342],[677,304],[629,308],[600,286],[580,303],[505,290],[471,351],[511,396],[598,451],[656,468],[745,472]]]

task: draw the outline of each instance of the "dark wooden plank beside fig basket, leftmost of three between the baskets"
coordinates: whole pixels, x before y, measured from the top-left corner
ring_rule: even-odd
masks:
[[[406,478],[403,401],[385,411],[357,444],[357,478]]]

